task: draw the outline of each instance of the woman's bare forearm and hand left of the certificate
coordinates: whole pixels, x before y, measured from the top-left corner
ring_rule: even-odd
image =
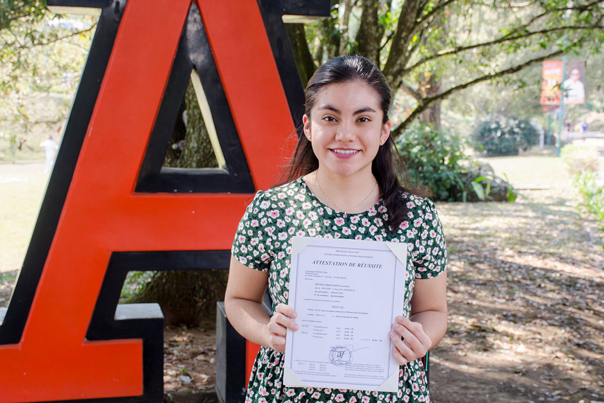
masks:
[[[262,306],[267,286],[266,272],[251,269],[231,257],[225,294],[226,317],[237,332],[252,343],[284,352],[286,328],[298,330],[292,320],[296,314],[288,305],[279,304],[275,315],[269,317]]]

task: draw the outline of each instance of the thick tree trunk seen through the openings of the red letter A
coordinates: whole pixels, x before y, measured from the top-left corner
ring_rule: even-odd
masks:
[[[216,156],[208,137],[193,85],[187,92],[172,132],[164,167],[216,167]],[[226,270],[158,271],[129,303],[159,303],[166,324],[197,326],[211,324],[216,301],[224,298]]]

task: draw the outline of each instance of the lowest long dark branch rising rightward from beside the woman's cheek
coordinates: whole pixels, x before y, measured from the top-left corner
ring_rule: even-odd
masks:
[[[393,129],[393,131],[391,131],[391,135],[393,135],[395,138],[398,137],[400,134],[402,134],[402,132],[406,129],[406,127],[408,127],[411,124],[411,122],[416,117],[419,116],[419,114],[421,114],[423,111],[425,111],[428,108],[428,106],[430,106],[434,102],[441,101],[441,100],[449,97],[449,95],[453,94],[454,92],[460,91],[461,89],[467,88],[471,85],[474,85],[474,84],[477,84],[477,83],[480,83],[480,82],[483,82],[486,80],[490,80],[490,79],[494,79],[496,77],[502,77],[502,76],[507,76],[508,74],[516,73],[525,67],[533,65],[535,63],[542,62],[546,59],[549,59],[550,57],[559,56],[561,54],[564,54],[566,51],[573,48],[578,43],[579,43],[579,40],[573,42],[573,44],[569,45],[568,47],[565,47],[561,50],[557,50],[552,53],[548,53],[545,56],[535,57],[535,59],[527,60],[524,63],[512,66],[510,68],[507,68],[507,69],[504,69],[501,71],[496,71],[495,73],[492,73],[492,74],[485,74],[484,76],[477,77],[474,80],[465,82],[460,85],[455,85],[455,86],[449,88],[448,90],[441,92],[440,94],[434,95],[433,97],[424,98],[423,100],[420,101],[419,105],[417,105],[417,108],[414,109],[413,112],[411,112],[411,115],[409,115],[409,117],[407,117],[405,120],[403,120],[399,124],[399,126],[397,126],[395,129]]]

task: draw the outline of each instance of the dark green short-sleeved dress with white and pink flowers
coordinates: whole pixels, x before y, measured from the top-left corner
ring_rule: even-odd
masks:
[[[235,259],[252,269],[268,272],[273,309],[288,303],[292,236],[408,242],[410,279],[429,279],[445,270],[446,245],[434,205],[408,193],[401,197],[408,219],[397,231],[385,224],[382,199],[369,210],[345,214],[320,202],[302,178],[256,193],[243,215],[233,242]],[[403,314],[410,313],[414,282],[406,285]],[[283,385],[283,353],[261,347],[249,379],[246,403],[377,403],[429,402],[426,373],[420,359],[400,367],[397,393]]]

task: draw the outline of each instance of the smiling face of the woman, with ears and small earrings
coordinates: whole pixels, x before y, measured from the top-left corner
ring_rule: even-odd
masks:
[[[304,134],[312,143],[319,169],[340,176],[371,173],[381,141],[390,135],[390,121],[377,92],[361,81],[324,86],[315,97]]]

